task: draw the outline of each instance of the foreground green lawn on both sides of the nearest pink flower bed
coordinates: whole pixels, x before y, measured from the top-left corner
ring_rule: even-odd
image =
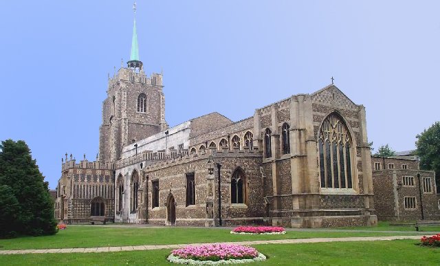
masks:
[[[255,245],[268,259],[249,265],[440,265],[440,248],[418,241]],[[171,265],[170,250],[0,255],[0,265]]]

